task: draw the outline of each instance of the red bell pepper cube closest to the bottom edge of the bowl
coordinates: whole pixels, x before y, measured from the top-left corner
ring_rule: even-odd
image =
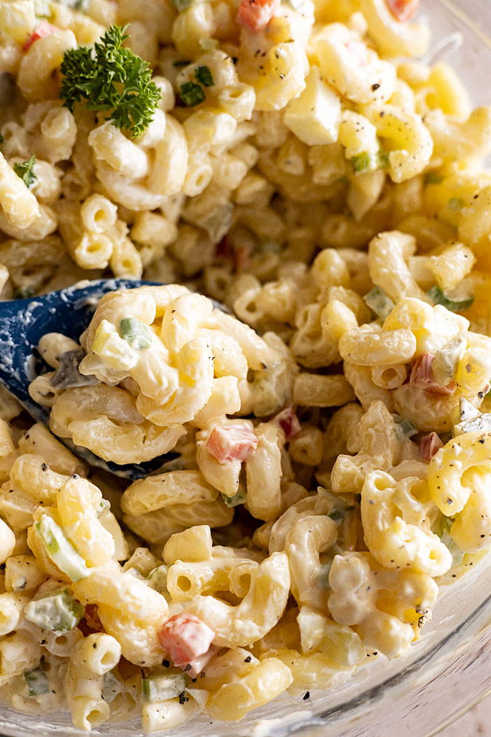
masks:
[[[174,666],[191,671],[192,663],[208,653],[215,633],[194,614],[176,614],[158,631],[160,645],[172,658]],[[186,668],[191,663],[191,668]]]

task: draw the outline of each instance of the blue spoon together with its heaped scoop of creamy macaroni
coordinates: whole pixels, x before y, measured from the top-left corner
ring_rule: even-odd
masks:
[[[286,349],[180,284],[81,283],[0,304],[0,383],[91,464],[143,478],[208,435],[219,461],[244,461],[250,415],[291,399]],[[15,336],[15,339],[14,339]],[[264,404],[264,402],[263,402]],[[177,465],[178,467],[178,465]]]

